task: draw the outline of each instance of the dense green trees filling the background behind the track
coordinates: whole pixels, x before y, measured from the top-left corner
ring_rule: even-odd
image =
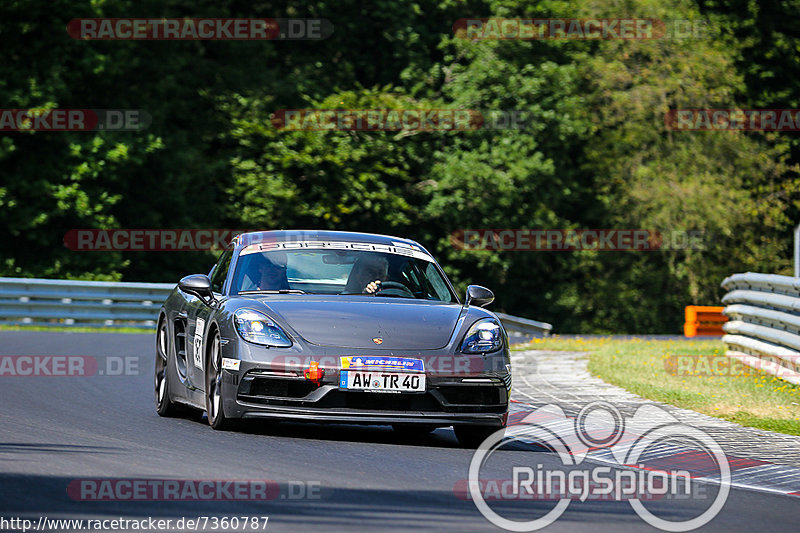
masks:
[[[675,108],[800,107],[796,7],[744,0],[0,5],[5,108],[135,108],[142,133],[0,136],[0,275],[174,281],[211,253],[72,252],[71,228],[408,236],[459,290],[566,332],[676,332],[743,270],[788,273],[796,134],[676,132]],[[325,41],[71,39],[76,17],[323,17]],[[704,19],[702,38],[468,41],[468,17]],[[280,109],[522,111],[522,129],[281,131]],[[462,229],[699,230],[704,249],[466,251]]]

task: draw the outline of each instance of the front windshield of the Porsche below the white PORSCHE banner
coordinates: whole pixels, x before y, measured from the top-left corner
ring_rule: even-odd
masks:
[[[364,294],[455,302],[436,264],[419,255],[245,248],[236,265],[233,292]]]

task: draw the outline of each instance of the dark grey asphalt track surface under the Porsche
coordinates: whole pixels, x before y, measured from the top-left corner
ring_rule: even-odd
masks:
[[[170,518],[268,516],[266,531],[502,531],[454,487],[472,452],[449,429],[405,438],[389,427],[281,423],[217,432],[201,419],[156,415],[154,335],[0,331],[0,355],[138,358],[138,375],[0,377],[0,516]],[[512,466],[558,468],[545,450],[509,446],[484,478]],[[82,501],[79,479],[274,480],[269,501]],[[305,484],[315,497],[299,497]],[[294,489],[291,489],[291,487]],[[294,490],[294,493],[290,493]],[[318,496],[317,496],[318,494]],[[297,499],[292,496],[298,496]],[[708,502],[648,504],[662,518],[702,513]],[[552,502],[503,502],[504,516],[530,520]],[[732,488],[703,531],[796,531],[797,498]],[[9,530],[9,528],[4,528]],[[210,530],[210,529],[207,529]],[[626,502],[572,502],[547,531],[653,531]]]

